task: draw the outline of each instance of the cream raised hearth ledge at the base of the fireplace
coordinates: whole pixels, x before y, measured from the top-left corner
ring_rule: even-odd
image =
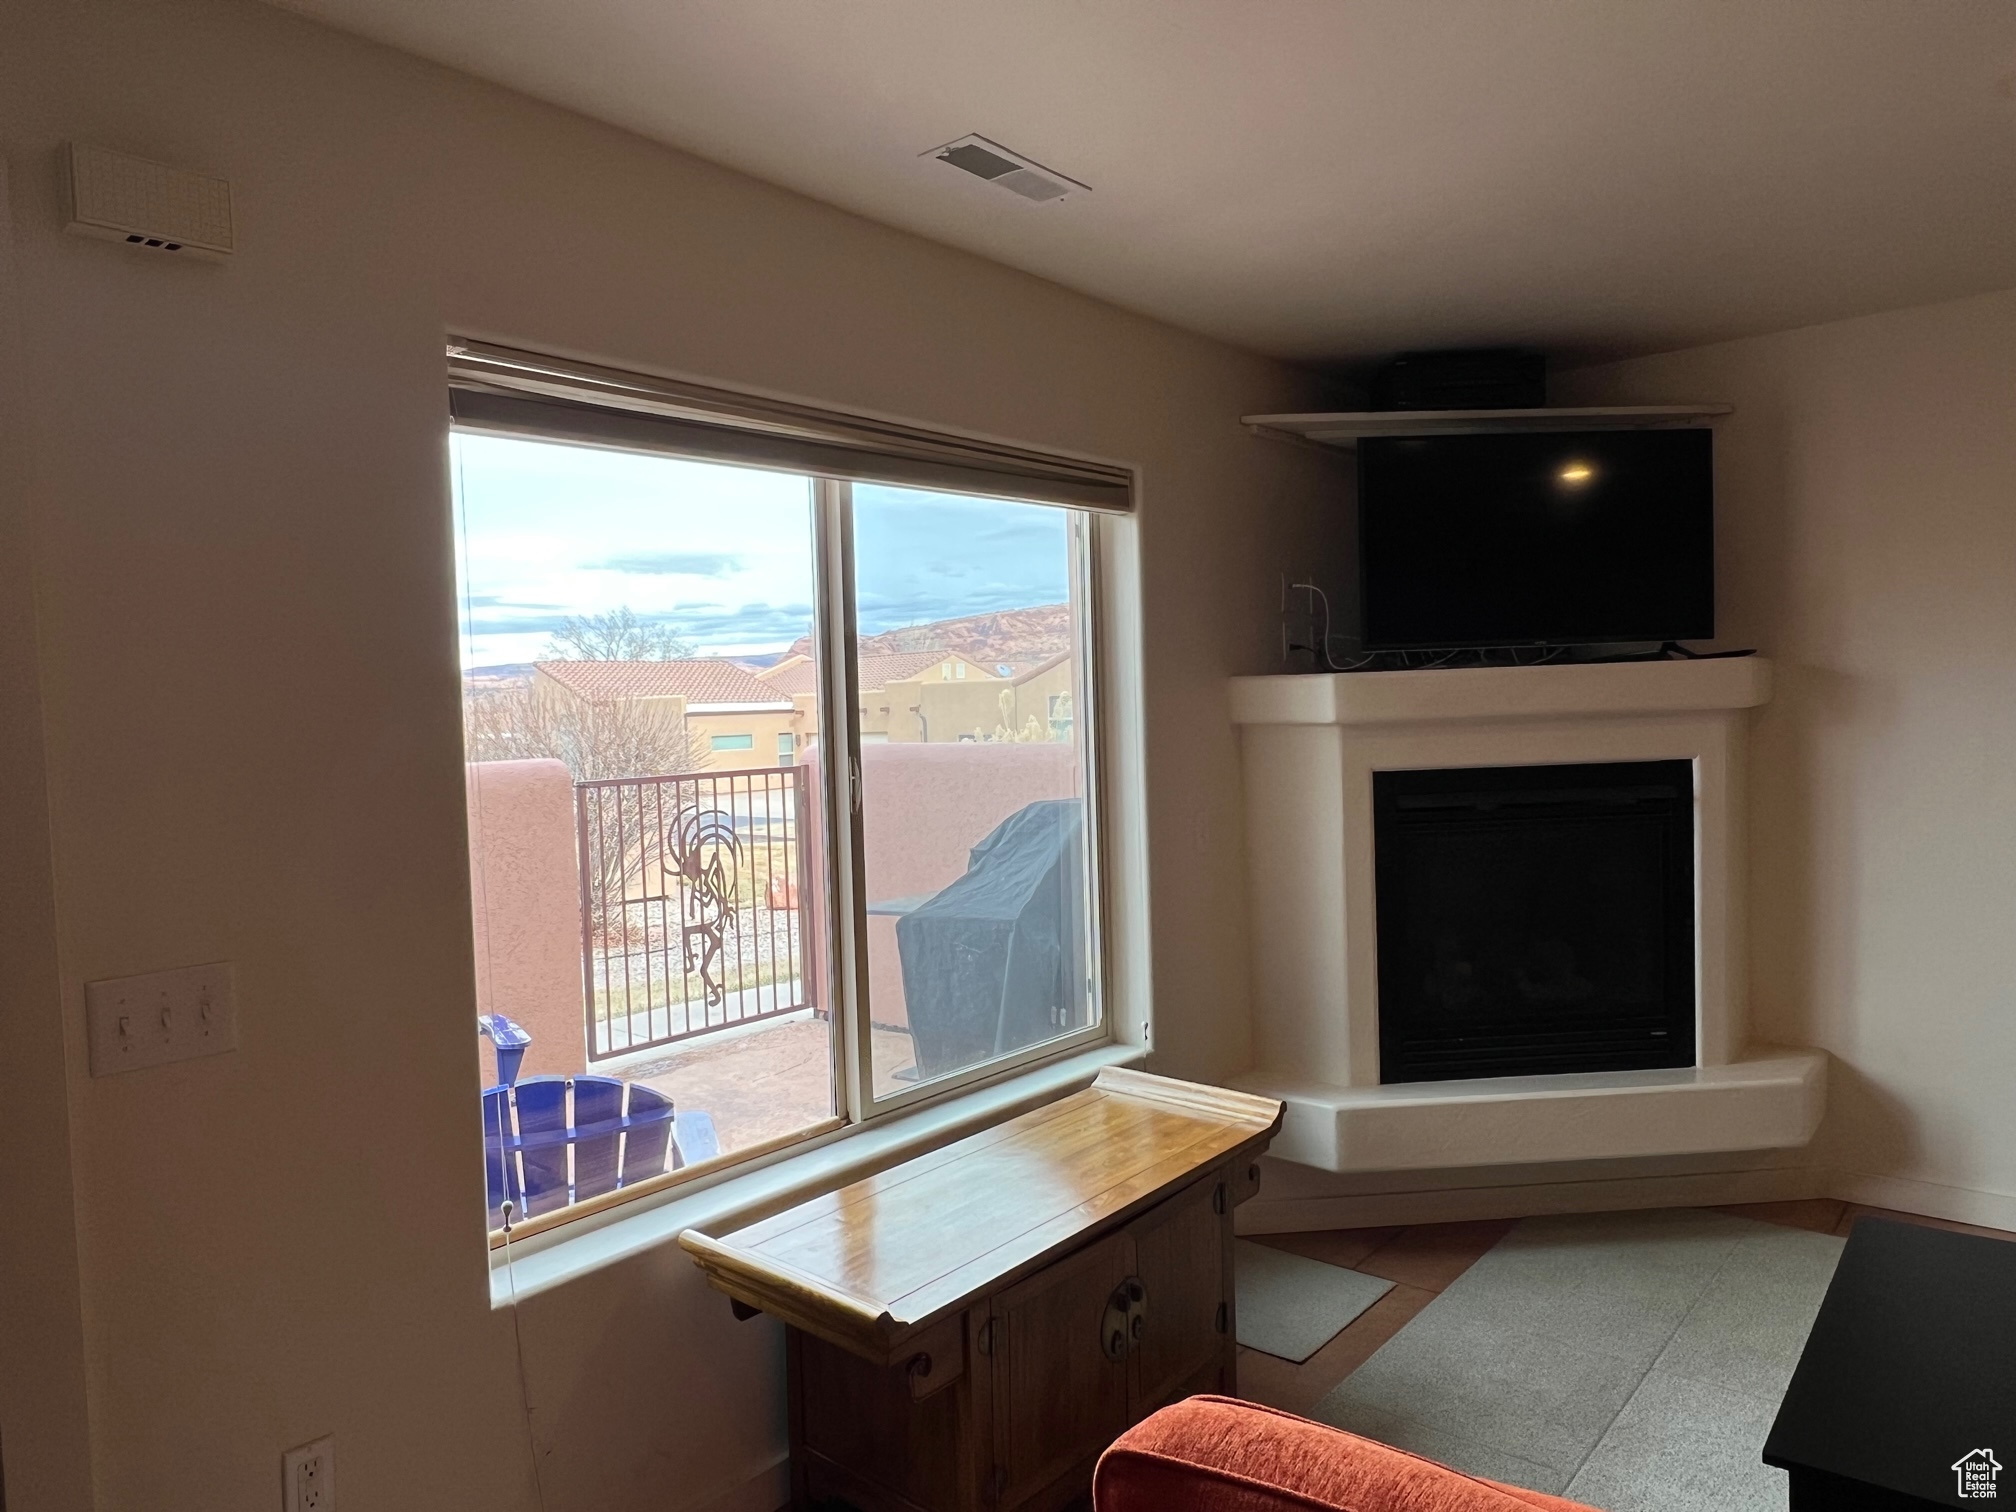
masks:
[[[1288,1105],[1268,1153],[1322,1171],[1796,1149],[1826,1103],[1826,1054],[1754,1046],[1689,1070],[1331,1087],[1278,1070],[1232,1079]]]

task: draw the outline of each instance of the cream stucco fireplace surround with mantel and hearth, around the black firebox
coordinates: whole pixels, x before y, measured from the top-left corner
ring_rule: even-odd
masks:
[[[1802,1145],[1824,1056],[1754,1046],[1744,748],[1770,661],[1625,661],[1234,677],[1246,784],[1254,1062],[1274,1153],[1333,1171]],[[1373,772],[1689,760],[1697,1064],[1381,1085]]]

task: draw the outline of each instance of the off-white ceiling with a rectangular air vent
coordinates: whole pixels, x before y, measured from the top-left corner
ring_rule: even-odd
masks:
[[[2016,286],[2006,0],[286,0],[1290,359]],[[980,133],[1091,185],[923,155]]]

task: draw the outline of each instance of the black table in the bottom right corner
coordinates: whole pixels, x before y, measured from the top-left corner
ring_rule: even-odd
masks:
[[[2016,1242],[1859,1222],[1764,1464],[1790,1512],[2016,1502]]]

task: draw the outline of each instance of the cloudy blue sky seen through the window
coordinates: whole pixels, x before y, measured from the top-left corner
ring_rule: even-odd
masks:
[[[454,433],[462,665],[534,661],[569,615],[629,607],[696,655],[782,651],[812,625],[810,480]],[[863,635],[1062,603],[1068,512],[855,486]]]

